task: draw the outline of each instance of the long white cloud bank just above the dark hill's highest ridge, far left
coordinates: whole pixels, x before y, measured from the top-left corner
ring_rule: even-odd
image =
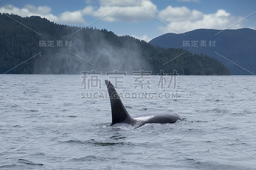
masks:
[[[13,5],[5,5],[0,7],[0,11],[9,14],[17,14],[21,17],[40,16],[41,18],[47,18],[50,21],[60,24],[70,23],[73,25],[84,25],[86,23],[82,11],[66,11],[59,16],[55,16],[50,13],[52,9],[47,6],[35,7],[33,5],[25,5],[24,8],[19,9]]]

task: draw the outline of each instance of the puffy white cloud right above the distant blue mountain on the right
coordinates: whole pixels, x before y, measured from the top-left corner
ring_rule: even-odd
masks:
[[[188,32],[199,28],[207,29],[226,29],[230,25],[233,25],[242,17],[232,16],[225,10],[218,10],[213,14],[203,14],[200,11],[189,10],[187,7],[171,7],[159,12],[159,18],[163,21],[170,22],[168,25],[175,28],[179,32]],[[175,32],[168,26],[158,27],[162,32]],[[242,22],[234,25],[232,29],[241,28]]]

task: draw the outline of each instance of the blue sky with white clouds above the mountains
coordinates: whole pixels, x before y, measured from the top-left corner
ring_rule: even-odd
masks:
[[[36,15],[56,23],[77,26],[86,26],[112,12],[90,26],[146,41],[168,32],[187,32],[198,28],[226,29],[255,11],[255,0],[0,1],[2,13],[22,17]],[[256,13],[229,29],[256,29],[255,21]]]

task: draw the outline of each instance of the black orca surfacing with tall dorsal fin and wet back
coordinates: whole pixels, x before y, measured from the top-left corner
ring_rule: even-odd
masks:
[[[182,117],[177,113],[159,112],[153,114],[142,115],[141,117],[131,117],[124,107],[119,95],[116,92],[113,84],[105,80],[108,88],[108,95],[111,104],[112,124],[110,126],[125,126],[138,128],[144,124],[152,123],[175,123],[177,120],[182,120]]]

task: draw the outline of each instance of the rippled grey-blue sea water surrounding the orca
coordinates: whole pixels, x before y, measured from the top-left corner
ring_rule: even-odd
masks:
[[[116,90],[131,116],[183,120],[133,129],[109,126],[106,76],[84,89],[80,75],[2,75],[0,169],[256,169],[254,76],[159,78]]]

